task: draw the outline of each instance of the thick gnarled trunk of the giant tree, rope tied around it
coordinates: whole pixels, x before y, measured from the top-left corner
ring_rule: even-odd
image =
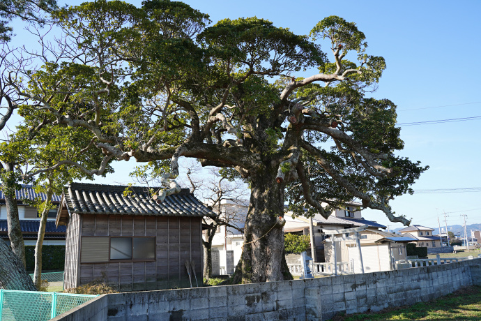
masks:
[[[231,283],[258,283],[291,280],[284,255],[282,184],[275,172],[266,170],[252,177],[249,211],[245,220],[244,245]]]

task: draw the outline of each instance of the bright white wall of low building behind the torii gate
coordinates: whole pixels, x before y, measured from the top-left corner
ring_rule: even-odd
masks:
[[[387,245],[361,246],[365,273],[390,270]],[[362,273],[358,248],[349,248],[349,260],[353,260],[354,273]]]

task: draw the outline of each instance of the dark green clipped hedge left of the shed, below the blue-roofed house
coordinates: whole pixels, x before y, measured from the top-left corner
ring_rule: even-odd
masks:
[[[35,246],[25,246],[26,270],[32,271],[35,267]],[[61,270],[65,264],[64,245],[44,245],[42,247],[42,269]]]

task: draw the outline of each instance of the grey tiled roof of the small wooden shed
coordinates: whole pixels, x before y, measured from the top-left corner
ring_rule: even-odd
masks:
[[[128,186],[72,183],[63,191],[69,213],[125,214],[155,216],[215,216],[188,188],[165,197],[158,204],[151,199],[148,188],[132,186],[133,193],[125,196]],[[156,190],[157,188],[154,188]],[[63,204],[62,204],[63,205]]]

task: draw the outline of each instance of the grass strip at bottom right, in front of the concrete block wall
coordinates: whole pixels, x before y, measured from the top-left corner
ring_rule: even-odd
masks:
[[[481,286],[462,288],[445,297],[413,306],[387,308],[376,313],[342,315],[333,319],[358,320],[481,320]]]

